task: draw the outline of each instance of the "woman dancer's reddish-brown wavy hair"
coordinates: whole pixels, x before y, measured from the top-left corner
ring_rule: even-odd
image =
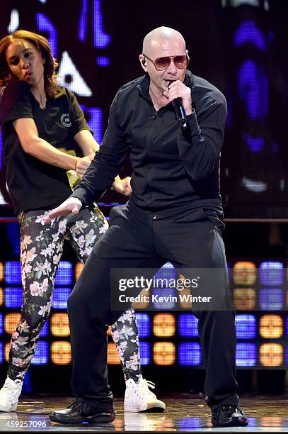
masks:
[[[57,60],[52,56],[49,42],[44,36],[28,30],[16,30],[16,32],[5,36],[0,40],[0,86],[7,84],[11,80],[11,70],[6,62],[6,50],[8,46],[16,40],[25,40],[40,52],[44,62],[44,87],[48,96],[54,96],[57,90],[57,75],[55,69],[58,66]]]

